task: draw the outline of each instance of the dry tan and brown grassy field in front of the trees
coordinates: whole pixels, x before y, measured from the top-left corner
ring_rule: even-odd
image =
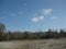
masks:
[[[0,49],[66,49],[66,39],[0,41]]]

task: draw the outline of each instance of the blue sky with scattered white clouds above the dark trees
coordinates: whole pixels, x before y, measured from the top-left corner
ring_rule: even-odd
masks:
[[[0,0],[0,23],[7,30],[66,28],[66,0]]]

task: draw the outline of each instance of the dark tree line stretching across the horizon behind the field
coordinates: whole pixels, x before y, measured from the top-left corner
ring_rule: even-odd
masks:
[[[66,30],[48,29],[47,32],[7,32],[6,25],[0,23],[0,41],[2,40],[22,40],[22,39],[48,39],[66,37]]]

